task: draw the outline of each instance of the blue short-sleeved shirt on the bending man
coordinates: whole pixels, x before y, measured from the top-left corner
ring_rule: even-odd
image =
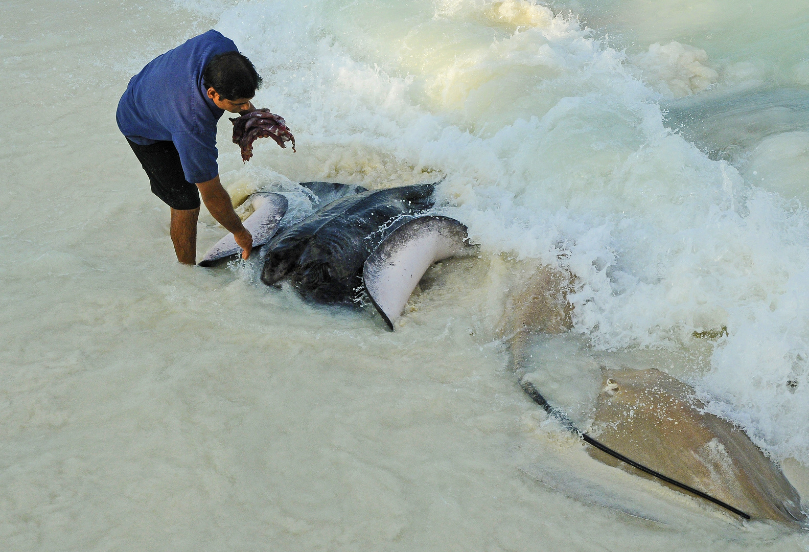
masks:
[[[217,176],[216,123],[225,112],[208,97],[202,70],[211,57],[235,50],[233,40],[211,30],[155,57],[129,80],[118,102],[118,128],[142,146],[174,142],[188,182]]]

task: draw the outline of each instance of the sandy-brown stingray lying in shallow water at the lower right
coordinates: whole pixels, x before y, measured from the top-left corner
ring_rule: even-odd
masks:
[[[591,437],[633,461],[731,504],[752,518],[805,521],[798,491],[743,431],[701,412],[694,390],[664,372],[604,370]],[[596,448],[590,455],[617,461]]]

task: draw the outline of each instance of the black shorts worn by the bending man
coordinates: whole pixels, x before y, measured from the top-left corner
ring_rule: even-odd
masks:
[[[176,210],[197,209],[200,193],[197,185],[185,180],[180,154],[174,142],[163,141],[141,146],[126,138],[143,170],[149,176],[152,193]]]

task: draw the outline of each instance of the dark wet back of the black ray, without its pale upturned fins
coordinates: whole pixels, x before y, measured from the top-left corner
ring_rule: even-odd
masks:
[[[424,184],[370,190],[329,203],[278,231],[267,244],[261,280],[272,286],[289,279],[318,303],[352,303],[362,264],[383,240],[385,225],[430,209],[434,189]]]

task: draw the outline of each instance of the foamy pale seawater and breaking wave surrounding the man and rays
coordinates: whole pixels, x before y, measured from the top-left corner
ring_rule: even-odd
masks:
[[[807,8],[5,2],[2,550],[807,550],[591,460],[498,341],[520,274],[570,271],[549,397],[586,423],[599,363],[658,367],[809,498]],[[209,28],[298,146],[243,164],[222,117],[234,195],[301,217],[294,182],[442,180],[480,255],[430,270],[395,333],[255,258],[176,263],[114,111]],[[203,214],[198,256],[223,234]]]

